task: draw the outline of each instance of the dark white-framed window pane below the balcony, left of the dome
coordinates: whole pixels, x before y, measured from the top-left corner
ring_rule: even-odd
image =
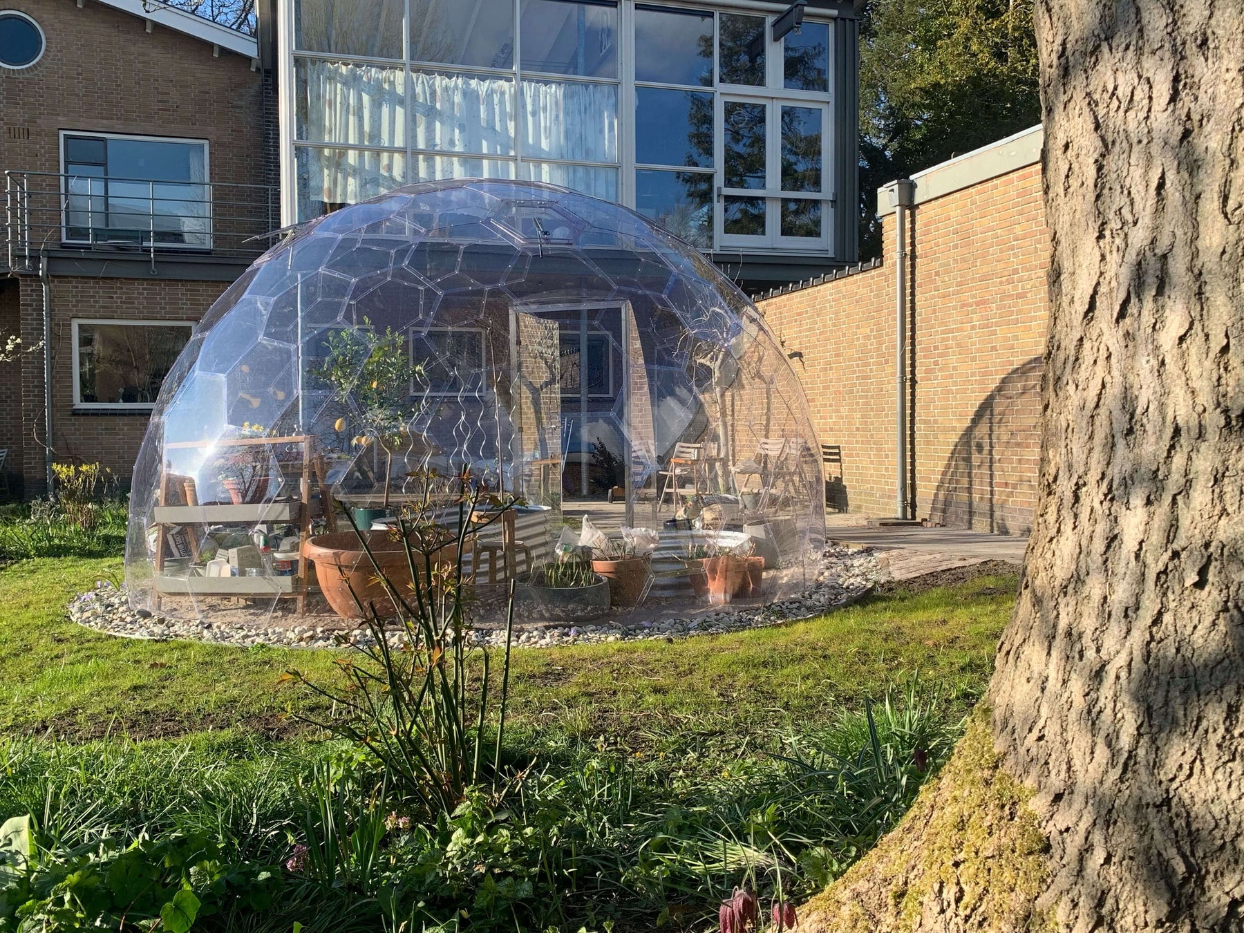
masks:
[[[152,404],[189,325],[76,323],[78,404]]]

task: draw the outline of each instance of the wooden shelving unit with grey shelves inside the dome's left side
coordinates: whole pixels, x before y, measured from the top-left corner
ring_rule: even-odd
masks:
[[[311,435],[290,435],[280,438],[231,438],[228,440],[179,440],[165,444],[165,449],[188,448],[235,448],[235,447],[301,447],[301,478],[299,499],[275,503],[246,503],[243,505],[198,503],[174,503],[172,484],[174,474],[170,464],[164,463],[160,475],[159,493],[153,520],[156,531],[156,595],[157,605],[160,596],[218,596],[218,597],[295,597],[299,612],[306,611],[306,596],[310,585],[309,562],[302,554],[302,545],[311,535],[311,484],[318,480],[325,514],[332,526],[332,499],[325,481],[323,469],[315,455],[315,438]],[[295,524],[299,526],[299,565],[294,576],[279,577],[207,577],[207,576],[169,576],[164,573],[168,536],[172,529],[194,525],[275,525]],[[198,559],[198,537],[188,535],[190,556]]]

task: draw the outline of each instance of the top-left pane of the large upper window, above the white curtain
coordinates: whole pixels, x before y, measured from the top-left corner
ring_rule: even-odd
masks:
[[[402,0],[295,0],[294,45],[305,52],[402,57]]]

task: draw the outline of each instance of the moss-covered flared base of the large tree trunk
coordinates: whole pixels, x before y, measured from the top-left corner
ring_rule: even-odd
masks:
[[[800,911],[802,933],[1051,929],[1047,845],[1031,794],[1001,770],[988,712],[903,820]]]

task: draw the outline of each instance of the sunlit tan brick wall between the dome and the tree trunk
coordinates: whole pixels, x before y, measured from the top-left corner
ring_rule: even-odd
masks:
[[[1039,165],[913,209],[909,363],[916,515],[1003,534],[1031,524],[1039,455],[1047,238]],[[886,218],[886,246],[894,215]],[[842,447],[838,504],[894,501],[894,267],[759,302],[804,379],[825,444]]]

